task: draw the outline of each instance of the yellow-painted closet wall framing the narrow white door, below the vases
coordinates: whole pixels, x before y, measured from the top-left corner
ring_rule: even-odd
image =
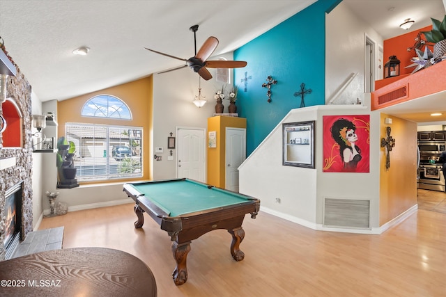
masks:
[[[217,147],[208,147],[208,184],[219,188],[224,188],[226,183],[226,127],[246,129],[246,119],[222,115],[208,118],[208,131],[217,132]]]

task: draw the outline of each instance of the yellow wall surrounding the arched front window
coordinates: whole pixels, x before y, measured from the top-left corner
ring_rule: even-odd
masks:
[[[91,97],[96,95],[113,95],[123,100],[128,105],[132,112],[132,120],[115,120],[105,118],[87,118],[81,117],[82,107]],[[93,93],[74,97],[72,99],[63,100],[57,104],[57,121],[58,137],[65,136],[65,123],[66,122],[79,122],[89,124],[102,124],[102,125],[125,125],[143,127],[143,177],[141,179],[151,179],[150,167],[151,158],[149,158],[149,148],[151,147],[149,135],[151,135],[152,127],[152,104],[153,102],[153,77],[146,77],[130,83],[124,83],[112,88],[106,88],[104,90],[98,90]],[[134,178],[133,178],[134,179]],[[113,179],[109,182],[118,182]]]

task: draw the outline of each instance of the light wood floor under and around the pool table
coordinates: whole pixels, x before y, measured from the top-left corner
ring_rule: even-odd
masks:
[[[215,230],[192,241],[189,278],[171,279],[171,241],[146,214],[135,230],[132,204],[44,218],[65,227],[63,248],[124,250],[153,271],[158,296],[446,296],[446,214],[419,209],[380,235],[321,232],[260,212],[246,216],[235,262],[231,235]],[[133,296],[132,296],[133,297]]]

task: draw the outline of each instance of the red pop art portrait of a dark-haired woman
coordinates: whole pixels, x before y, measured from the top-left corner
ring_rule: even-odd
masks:
[[[323,172],[369,172],[370,116],[323,116]]]

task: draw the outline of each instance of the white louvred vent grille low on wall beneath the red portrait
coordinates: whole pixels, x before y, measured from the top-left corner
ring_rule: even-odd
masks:
[[[370,200],[325,198],[325,227],[370,228]]]

